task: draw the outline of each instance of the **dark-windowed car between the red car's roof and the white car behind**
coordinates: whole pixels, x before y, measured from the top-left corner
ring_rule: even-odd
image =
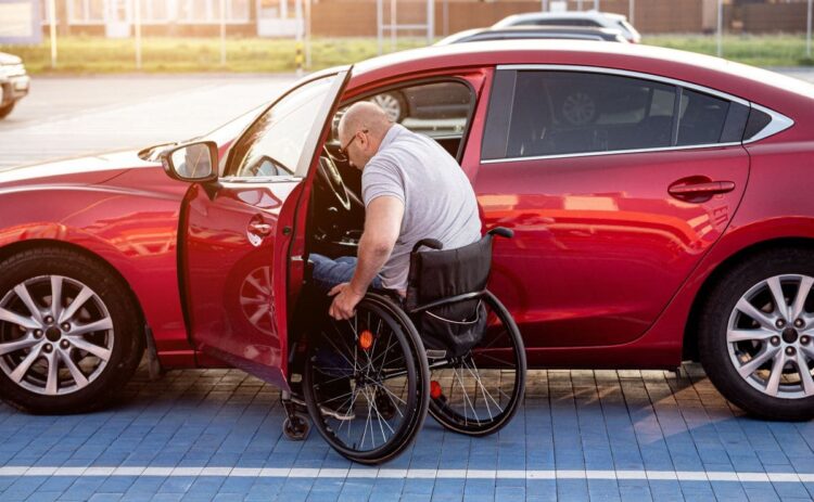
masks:
[[[595,28],[583,26],[508,26],[505,28],[474,28],[450,35],[436,46],[451,43],[480,42],[489,40],[594,40],[627,43],[627,39],[615,28]]]

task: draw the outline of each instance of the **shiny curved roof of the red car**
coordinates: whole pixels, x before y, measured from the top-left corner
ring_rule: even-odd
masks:
[[[710,55],[645,44],[530,39],[454,43],[373,57],[354,66],[348,90],[353,93],[378,80],[408,78],[416,73],[509,64],[639,72],[716,89],[770,107],[778,90],[814,98],[814,86],[807,82]]]

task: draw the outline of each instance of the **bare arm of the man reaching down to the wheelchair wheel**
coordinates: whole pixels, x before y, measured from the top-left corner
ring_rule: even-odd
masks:
[[[349,283],[330,291],[333,298],[328,311],[334,319],[349,319],[356,305],[390,258],[402,231],[404,203],[392,195],[376,197],[368,204],[365,215],[365,231],[359,240],[358,262]]]

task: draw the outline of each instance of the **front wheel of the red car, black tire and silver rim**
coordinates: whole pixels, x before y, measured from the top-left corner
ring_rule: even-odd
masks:
[[[98,260],[60,247],[13,255],[0,271],[2,399],[65,414],[118,396],[144,351],[127,285]]]

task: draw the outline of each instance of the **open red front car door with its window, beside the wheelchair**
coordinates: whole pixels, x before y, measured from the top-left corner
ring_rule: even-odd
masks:
[[[294,214],[351,68],[302,82],[234,142],[181,210],[181,282],[194,347],[288,389],[287,275]]]

